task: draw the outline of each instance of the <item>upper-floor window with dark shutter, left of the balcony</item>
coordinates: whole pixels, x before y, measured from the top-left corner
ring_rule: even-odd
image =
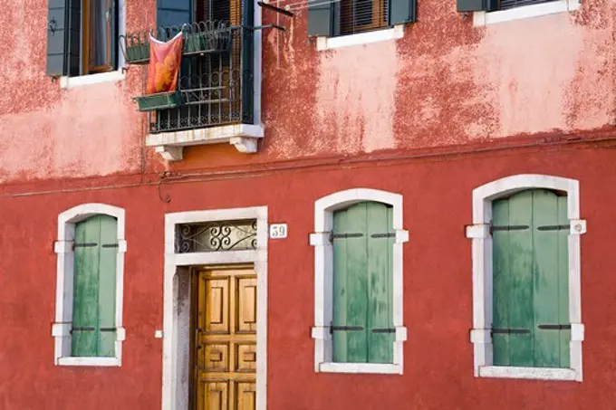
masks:
[[[80,76],[119,67],[122,0],[49,0],[47,75]]]

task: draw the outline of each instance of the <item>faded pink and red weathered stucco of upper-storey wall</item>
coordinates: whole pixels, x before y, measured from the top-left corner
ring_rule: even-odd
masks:
[[[154,0],[128,3],[128,31],[154,22]],[[419,0],[419,21],[402,40],[326,52],[309,42],[305,10],[282,17],[287,32],[264,35],[259,153],[188,148],[185,161],[168,165],[140,149],[147,119],[130,99],[142,91],[141,68],[131,67],[125,81],[60,90],[44,76],[45,0],[8,0],[0,15],[0,182],[601,129],[616,116],[615,10],[588,0],[571,14],[473,27],[455,1]],[[264,17],[274,21],[272,12]]]

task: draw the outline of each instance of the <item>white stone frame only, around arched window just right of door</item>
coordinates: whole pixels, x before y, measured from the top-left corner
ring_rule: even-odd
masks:
[[[379,202],[393,207],[393,226],[396,234],[393,244],[393,363],[334,363],[332,361],[333,317],[333,246],[330,234],[333,213],[361,202]],[[330,373],[403,373],[402,347],[407,339],[403,320],[403,268],[402,244],[409,241],[409,232],[402,229],[402,195],[368,188],[348,189],[323,196],[314,203],[314,233],[310,244],[314,246],[314,371]]]

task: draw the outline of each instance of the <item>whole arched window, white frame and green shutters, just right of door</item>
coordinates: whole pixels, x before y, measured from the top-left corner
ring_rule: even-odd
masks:
[[[401,196],[351,189],[315,204],[315,370],[402,373]]]

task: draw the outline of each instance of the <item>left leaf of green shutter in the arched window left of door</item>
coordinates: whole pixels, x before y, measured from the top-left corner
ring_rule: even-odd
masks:
[[[101,224],[94,216],[75,226],[75,242],[99,243]],[[98,329],[99,246],[82,246],[74,251],[72,327]],[[72,356],[97,356],[98,332],[72,333]]]

